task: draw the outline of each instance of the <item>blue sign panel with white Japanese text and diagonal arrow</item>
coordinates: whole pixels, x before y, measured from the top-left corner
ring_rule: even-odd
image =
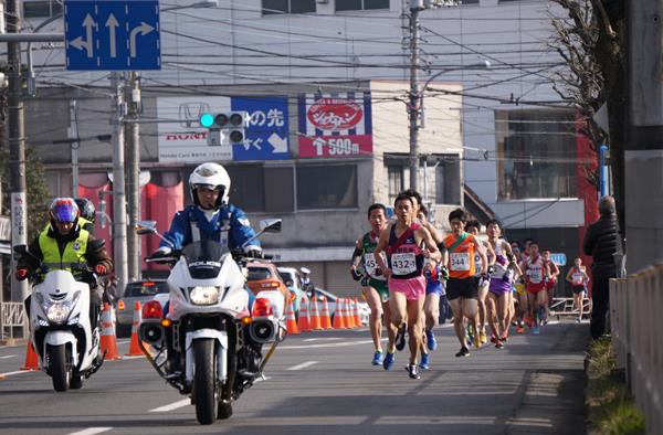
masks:
[[[231,110],[250,116],[244,144],[233,145],[233,160],[290,159],[287,97],[232,97]]]

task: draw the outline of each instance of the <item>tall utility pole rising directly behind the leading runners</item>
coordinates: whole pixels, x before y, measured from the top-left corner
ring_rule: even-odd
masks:
[[[410,189],[418,189],[419,176],[419,114],[421,95],[419,94],[419,12],[423,2],[410,2]]]

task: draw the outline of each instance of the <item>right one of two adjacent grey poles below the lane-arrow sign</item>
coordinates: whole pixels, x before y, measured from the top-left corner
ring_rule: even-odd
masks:
[[[140,219],[140,125],[131,123],[138,118],[140,104],[140,82],[135,71],[129,73],[127,85],[127,120],[125,131],[127,136],[127,209],[129,229],[127,233],[128,278],[140,279],[140,240],[133,231],[136,221]]]

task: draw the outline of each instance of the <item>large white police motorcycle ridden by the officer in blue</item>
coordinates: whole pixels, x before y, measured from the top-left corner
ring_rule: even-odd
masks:
[[[260,226],[255,237],[280,232],[281,220],[261,221]],[[136,232],[167,241],[154,221],[139,221]],[[191,397],[200,424],[229,418],[233,401],[262,376],[285,338],[285,298],[280,291],[261,291],[250,312],[242,269],[246,257],[215,241],[193,242],[145,261],[169,264],[171,270],[168,312],[158,300],[143,306],[143,352],[161,378]]]

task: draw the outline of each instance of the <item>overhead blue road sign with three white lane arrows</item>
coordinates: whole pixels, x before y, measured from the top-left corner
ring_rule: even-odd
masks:
[[[70,71],[160,70],[157,0],[65,0]]]

